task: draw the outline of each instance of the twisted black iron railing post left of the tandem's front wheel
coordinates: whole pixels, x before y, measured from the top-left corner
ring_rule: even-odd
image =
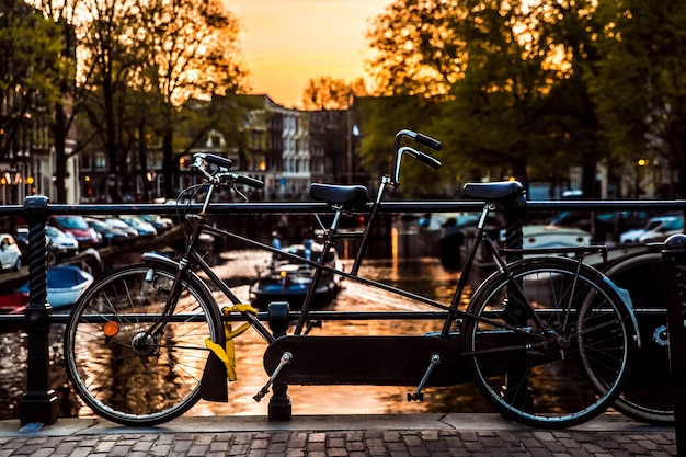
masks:
[[[45,196],[24,199],[24,218],[28,224],[28,305],[25,311],[27,340],[26,391],[20,405],[20,422],[54,424],[59,403],[49,385],[50,315],[47,302],[45,224],[48,218]]]

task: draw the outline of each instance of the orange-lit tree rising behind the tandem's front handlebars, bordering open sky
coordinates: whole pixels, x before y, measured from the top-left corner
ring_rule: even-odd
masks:
[[[164,194],[175,197],[174,126],[180,106],[192,96],[211,99],[240,92],[245,70],[237,47],[238,22],[217,0],[157,0],[146,10],[151,61],[142,87],[161,101],[158,135],[162,138]]]

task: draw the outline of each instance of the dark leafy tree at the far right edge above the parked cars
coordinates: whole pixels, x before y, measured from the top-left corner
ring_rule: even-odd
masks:
[[[686,195],[686,4],[601,2],[597,16],[601,59],[588,84],[613,153],[629,176],[639,160],[666,159],[676,171],[668,196]]]

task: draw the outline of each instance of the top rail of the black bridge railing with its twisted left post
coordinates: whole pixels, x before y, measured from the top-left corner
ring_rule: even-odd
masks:
[[[447,202],[386,202],[382,213],[457,213],[479,212],[482,203],[471,201]],[[191,205],[191,210],[199,210],[201,205]],[[525,213],[539,212],[619,212],[619,210],[663,210],[685,212],[686,201],[554,201],[527,202],[524,210],[505,214],[506,243],[508,248],[522,245],[522,222]],[[325,214],[332,210],[323,203],[216,203],[208,209],[214,215],[283,215],[283,214]],[[20,404],[22,425],[41,423],[53,424],[58,419],[57,396],[50,388],[49,332],[50,324],[59,320],[52,315],[47,301],[47,255],[45,226],[52,215],[122,215],[152,214],[175,216],[174,205],[152,204],[103,204],[62,205],[49,204],[47,197],[32,196],[23,205],[0,207],[0,217],[22,216],[28,225],[28,292],[30,299],[24,316],[0,316],[0,322],[20,320],[27,334],[26,391]],[[64,320],[62,320],[64,322]],[[686,355],[685,355],[686,357]]]

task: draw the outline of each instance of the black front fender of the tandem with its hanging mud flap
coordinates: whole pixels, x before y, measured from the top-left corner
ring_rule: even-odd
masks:
[[[179,264],[173,260],[165,258],[164,255],[157,254],[155,252],[146,252],[141,255],[142,263],[150,266],[160,266],[169,269],[178,269]],[[186,272],[187,282],[196,287],[198,290],[206,293],[208,297],[211,297],[209,287],[192,271]],[[219,319],[221,319],[219,317]],[[221,322],[221,320],[219,320]],[[220,347],[226,344],[226,336],[224,330],[218,332],[219,341],[215,341]],[[205,369],[203,370],[203,379],[201,380],[201,398],[206,401],[215,401],[226,403],[229,401],[229,388],[228,388],[228,375],[226,365],[221,359],[211,351],[208,351],[207,361],[205,362]]]

